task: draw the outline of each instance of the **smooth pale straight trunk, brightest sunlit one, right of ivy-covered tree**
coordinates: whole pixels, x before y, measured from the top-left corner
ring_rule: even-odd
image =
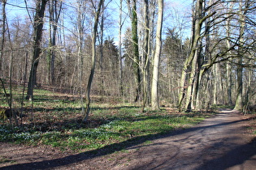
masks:
[[[158,0],[158,28],[156,32],[156,45],[154,53],[153,77],[151,89],[151,107],[153,110],[159,109],[158,101],[158,77],[159,62],[162,48],[162,27],[163,27],[163,0]]]

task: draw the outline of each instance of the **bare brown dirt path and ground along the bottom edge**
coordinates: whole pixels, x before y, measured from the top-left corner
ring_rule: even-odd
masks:
[[[251,115],[223,109],[189,129],[114,153],[0,142],[0,169],[255,169],[255,126]]]

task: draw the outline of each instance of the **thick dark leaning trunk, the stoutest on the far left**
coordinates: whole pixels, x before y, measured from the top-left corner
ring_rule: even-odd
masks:
[[[32,66],[30,69],[29,79],[28,79],[28,92],[27,100],[33,100],[33,89],[37,83],[37,66],[39,64],[39,57],[41,54],[41,36],[44,25],[44,15],[46,10],[47,0],[37,0],[36,6],[36,15],[34,18],[33,28],[34,28],[34,37],[33,37],[33,59]]]

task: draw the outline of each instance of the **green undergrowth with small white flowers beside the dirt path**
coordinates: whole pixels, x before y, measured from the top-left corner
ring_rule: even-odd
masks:
[[[20,95],[16,95],[17,99]],[[49,145],[63,151],[92,151],[114,143],[140,140],[195,125],[211,113],[178,113],[175,109],[141,113],[132,104],[92,104],[89,121],[81,121],[80,100],[50,91],[35,91],[33,108],[24,104],[22,126],[0,123],[0,141]]]

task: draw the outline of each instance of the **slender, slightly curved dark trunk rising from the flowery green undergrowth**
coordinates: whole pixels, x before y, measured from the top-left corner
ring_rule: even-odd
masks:
[[[86,108],[85,108],[85,115],[83,117],[83,121],[87,121],[88,117],[89,117],[89,110],[90,110],[90,91],[91,91],[91,86],[93,83],[93,74],[94,74],[94,70],[95,70],[95,57],[96,57],[96,36],[97,36],[97,29],[98,29],[98,19],[101,13],[101,9],[102,9],[102,4],[103,4],[104,0],[100,0],[100,2],[98,2],[98,9],[95,13],[95,17],[94,17],[94,24],[93,24],[93,35],[92,35],[92,65],[91,65],[91,70],[90,70],[90,74],[89,74],[89,80],[87,83],[87,87],[86,87],[86,91],[85,91],[85,100],[86,100]]]

